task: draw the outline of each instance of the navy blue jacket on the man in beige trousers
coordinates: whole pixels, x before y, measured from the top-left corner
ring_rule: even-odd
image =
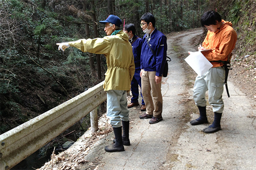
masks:
[[[166,62],[167,43],[166,36],[155,29],[150,37],[149,44],[156,56],[151,52],[146,36],[143,36],[143,44],[141,49],[141,69],[145,71],[156,71],[157,76],[163,75],[163,69]]]

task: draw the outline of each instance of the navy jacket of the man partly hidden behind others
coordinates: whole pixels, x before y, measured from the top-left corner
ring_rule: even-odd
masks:
[[[134,64],[135,64],[135,69],[141,69],[141,46],[142,46],[142,38],[138,37],[136,39],[136,35],[132,37],[132,53],[134,56]],[[136,40],[135,40],[136,39]]]

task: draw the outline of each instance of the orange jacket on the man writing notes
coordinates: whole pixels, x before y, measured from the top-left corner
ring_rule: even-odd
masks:
[[[204,39],[202,46],[206,49],[211,49],[210,51],[202,51],[202,54],[209,61],[227,61],[228,55],[235,48],[235,42],[237,40],[237,34],[232,28],[231,22],[224,23],[215,32],[208,31],[206,38]],[[213,62],[213,67],[223,66],[223,63]]]

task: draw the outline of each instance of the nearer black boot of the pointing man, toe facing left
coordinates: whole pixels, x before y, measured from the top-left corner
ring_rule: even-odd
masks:
[[[122,127],[113,127],[115,134],[115,143],[105,147],[107,152],[121,152],[124,151],[124,145],[122,141]]]

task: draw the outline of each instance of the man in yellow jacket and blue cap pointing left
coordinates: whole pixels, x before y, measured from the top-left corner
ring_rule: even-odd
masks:
[[[108,69],[105,73],[104,90],[107,91],[107,117],[114,129],[115,143],[106,146],[105,150],[107,152],[121,152],[125,150],[124,145],[130,145],[126,91],[130,90],[135,65],[129,37],[127,33],[120,30],[122,24],[120,18],[109,15],[105,21],[100,21],[100,23],[105,24],[104,31],[107,36],[57,43],[57,45],[62,51],[71,46],[83,52],[106,56]]]

